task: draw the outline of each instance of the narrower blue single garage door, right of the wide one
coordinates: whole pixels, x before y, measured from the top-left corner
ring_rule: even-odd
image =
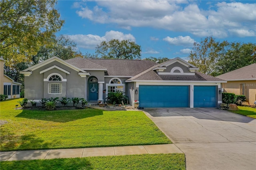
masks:
[[[194,107],[216,107],[216,86],[194,86]]]

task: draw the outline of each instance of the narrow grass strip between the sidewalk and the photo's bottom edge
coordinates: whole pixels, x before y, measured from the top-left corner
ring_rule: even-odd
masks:
[[[0,162],[1,170],[186,170],[184,154],[142,154]]]

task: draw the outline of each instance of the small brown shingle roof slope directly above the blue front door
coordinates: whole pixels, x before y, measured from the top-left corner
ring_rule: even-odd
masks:
[[[65,61],[83,70],[107,70],[105,67],[102,67],[96,63],[89,61],[88,59],[83,59],[81,57],[75,57],[72,59],[67,59]]]

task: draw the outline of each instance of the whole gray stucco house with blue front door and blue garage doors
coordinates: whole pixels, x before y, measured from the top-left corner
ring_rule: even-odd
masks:
[[[218,107],[220,84],[226,81],[196,72],[180,58],[161,64],[148,60],[52,57],[20,73],[25,75],[25,98],[82,97],[106,100],[109,92],[124,91],[140,107]],[[106,89],[106,93],[104,93]]]

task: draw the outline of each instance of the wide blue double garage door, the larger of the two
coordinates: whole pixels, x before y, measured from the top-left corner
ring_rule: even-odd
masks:
[[[140,107],[189,107],[189,86],[140,85]]]

